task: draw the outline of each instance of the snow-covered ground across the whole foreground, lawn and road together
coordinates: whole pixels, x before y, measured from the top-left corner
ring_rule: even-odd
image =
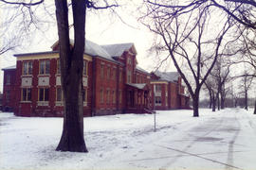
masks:
[[[0,169],[256,169],[252,110],[84,118],[88,153],[55,151],[62,118],[0,112]]]

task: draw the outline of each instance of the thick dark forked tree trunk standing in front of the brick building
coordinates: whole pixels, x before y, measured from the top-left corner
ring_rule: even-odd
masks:
[[[70,48],[68,8],[64,0],[55,0],[60,45],[64,127],[56,150],[87,152],[83,138],[82,59],[84,52],[85,1],[73,0],[74,47]]]

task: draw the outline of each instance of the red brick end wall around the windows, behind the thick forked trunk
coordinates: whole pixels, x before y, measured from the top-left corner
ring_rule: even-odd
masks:
[[[16,87],[17,87],[17,97],[16,97],[16,110],[14,113],[21,116],[63,116],[64,107],[56,106],[56,75],[57,75],[57,60],[50,60],[50,76],[49,76],[49,100],[48,106],[38,106],[38,77],[39,75],[39,61],[41,59],[32,59],[33,69],[32,69],[32,92],[31,92],[31,102],[21,102],[21,80],[22,80],[22,67],[23,62],[17,61],[17,74],[16,74]],[[42,59],[46,60],[46,59]],[[84,116],[91,116],[91,81],[92,76],[89,70],[92,64],[88,62],[88,87],[87,87],[87,106],[83,107]]]

